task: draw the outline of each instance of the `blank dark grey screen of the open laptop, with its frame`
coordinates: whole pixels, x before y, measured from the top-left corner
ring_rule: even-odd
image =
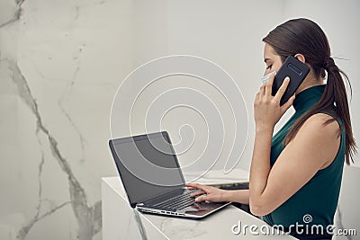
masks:
[[[184,186],[166,132],[114,139],[109,143],[132,207]]]

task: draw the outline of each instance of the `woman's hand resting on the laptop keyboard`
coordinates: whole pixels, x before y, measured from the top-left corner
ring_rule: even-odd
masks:
[[[194,190],[194,189],[199,190],[199,191],[193,192],[190,195],[191,197],[196,197],[196,196],[199,196],[202,194],[206,194],[206,195],[197,197],[195,199],[195,201],[204,201],[204,200],[209,200],[209,201],[213,201],[213,202],[226,201],[226,200],[224,200],[225,190],[221,190],[218,188],[214,188],[211,186],[206,186],[206,185],[202,185],[202,184],[198,184],[198,183],[187,183],[186,187],[188,190]]]

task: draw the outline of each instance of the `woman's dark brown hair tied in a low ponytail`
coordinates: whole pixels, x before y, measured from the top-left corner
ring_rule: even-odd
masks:
[[[327,72],[327,84],[320,102],[315,104],[311,110],[305,112],[289,130],[284,144],[288,144],[302,127],[302,124],[313,114],[319,112],[334,112],[336,118],[342,121],[341,129],[346,131],[346,157],[347,164],[350,158],[356,154],[356,142],[351,128],[350,112],[347,102],[347,90],[342,76],[351,84],[347,75],[338,68],[334,59],[330,56],[330,47],[327,36],[320,26],[309,19],[293,19],[277,26],[263,39],[275,49],[275,53],[284,59],[289,55],[302,54],[305,63],[310,65],[314,75],[324,78]],[[341,76],[342,75],[342,76]],[[334,121],[334,118],[327,120],[325,124]]]

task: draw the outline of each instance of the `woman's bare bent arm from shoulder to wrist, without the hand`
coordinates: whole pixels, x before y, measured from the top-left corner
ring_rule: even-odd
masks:
[[[332,162],[338,153],[340,138],[337,121],[324,126],[329,118],[323,113],[311,116],[284,148],[271,170],[267,151],[271,140],[265,133],[256,137],[249,196],[254,215],[264,216],[277,209]]]

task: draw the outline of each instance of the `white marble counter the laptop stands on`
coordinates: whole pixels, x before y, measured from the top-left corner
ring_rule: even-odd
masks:
[[[186,174],[185,179],[192,174]],[[233,182],[247,182],[248,174],[236,170],[230,174],[220,171],[207,173],[196,182],[208,184],[226,184]],[[169,218],[151,214],[139,213],[131,209],[129,201],[122,188],[119,177],[103,178],[103,240],[115,239],[295,239],[292,236],[264,235],[260,228],[249,227],[267,226],[264,221],[248,214],[234,206],[212,214],[201,220],[185,218]],[[238,227],[234,227],[237,225]],[[243,231],[245,226],[248,226]],[[238,235],[233,233],[242,229]],[[269,227],[271,229],[271,227]],[[258,235],[256,235],[258,233]]]

